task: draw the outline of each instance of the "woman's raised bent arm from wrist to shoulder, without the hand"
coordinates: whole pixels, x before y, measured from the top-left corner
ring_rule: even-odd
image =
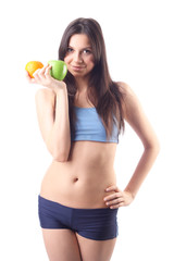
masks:
[[[67,161],[71,149],[69,101],[66,87],[55,94],[48,89],[36,92],[39,128],[53,159]]]

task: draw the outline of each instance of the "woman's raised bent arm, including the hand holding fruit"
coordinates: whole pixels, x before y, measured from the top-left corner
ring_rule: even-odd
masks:
[[[71,149],[69,97],[65,83],[50,76],[50,65],[37,70],[28,82],[47,88],[35,96],[39,128],[45,144],[57,161],[67,161]]]

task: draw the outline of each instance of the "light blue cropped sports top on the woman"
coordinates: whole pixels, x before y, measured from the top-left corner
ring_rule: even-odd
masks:
[[[74,138],[72,137],[72,141],[91,140],[119,144],[119,129],[115,124],[113,124],[111,137],[107,140],[105,128],[95,107],[75,107],[75,114],[77,121],[75,125],[75,135]]]

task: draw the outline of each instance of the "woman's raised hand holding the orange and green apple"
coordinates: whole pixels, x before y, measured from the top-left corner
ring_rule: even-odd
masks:
[[[32,78],[28,72],[26,71],[26,77],[28,83],[42,85],[45,87],[52,89],[55,92],[59,91],[60,89],[66,88],[66,84],[64,82],[54,79],[50,75],[50,69],[51,65],[47,64],[42,69],[36,70],[36,72],[33,74],[34,78]]]

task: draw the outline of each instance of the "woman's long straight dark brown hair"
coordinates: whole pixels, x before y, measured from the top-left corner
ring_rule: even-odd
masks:
[[[77,18],[73,21],[65,29],[60,48],[59,59],[64,60],[70,38],[75,34],[85,34],[88,36],[92,53],[95,57],[95,67],[90,72],[90,80],[88,88],[88,99],[95,104],[98,114],[100,115],[102,123],[105,127],[107,137],[112,134],[113,123],[117,125],[119,132],[124,129],[124,116],[123,116],[123,95],[120,91],[119,85],[111,79],[107,53],[105,44],[101,27],[94,18]],[[69,107],[70,107],[70,122],[71,128],[74,134],[75,126],[75,113],[74,113],[74,98],[77,91],[74,76],[67,72],[64,79],[67,86],[69,94]],[[116,121],[113,115],[115,115]]]

